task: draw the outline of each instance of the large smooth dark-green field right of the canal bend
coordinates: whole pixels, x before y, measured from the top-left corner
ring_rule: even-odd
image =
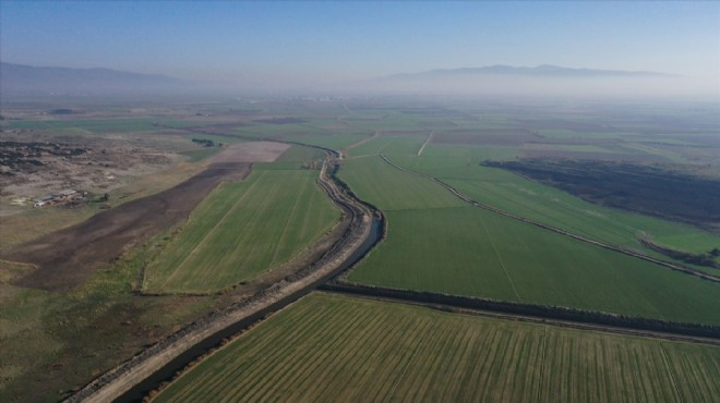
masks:
[[[349,280],[720,325],[720,284],[473,208],[388,211]]]

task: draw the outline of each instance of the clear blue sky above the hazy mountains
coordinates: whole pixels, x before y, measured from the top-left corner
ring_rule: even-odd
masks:
[[[4,62],[219,83],[554,64],[720,86],[718,1],[0,0],[0,29]]]

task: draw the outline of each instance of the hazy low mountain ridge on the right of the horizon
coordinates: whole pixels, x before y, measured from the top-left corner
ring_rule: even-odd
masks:
[[[495,64],[483,68],[460,68],[460,69],[436,69],[420,73],[394,74],[385,78],[421,78],[421,77],[443,77],[458,75],[519,75],[535,77],[659,77],[670,76],[664,73],[648,71],[623,71],[623,70],[599,70],[599,69],[572,69],[559,65],[542,64],[535,68],[523,68]]]

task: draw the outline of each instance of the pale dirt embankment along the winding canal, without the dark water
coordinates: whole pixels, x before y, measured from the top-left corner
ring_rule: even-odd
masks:
[[[251,297],[236,302],[223,310],[213,312],[143,350],[129,361],[103,374],[64,402],[107,402],[118,399],[199,343],[253,315],[264,312],[271,314],[284,307],[346,269],[344,264],[352,259],[353,255],[370,239],[373,222],[381,215],[379,211],[372,211],[351,193],[344,192],[345,186],[334,182],[336,180],[334,173],[338,169],[334,160],[341,158],[341,154],[324,147],[299,145],[321,149],[328,156],[323,161],[317,183],[333,203],[350,215],[350,222],[343,236],[320,259],[295,274],[261,290]],[[329,173],[328,164],[333,167]]]

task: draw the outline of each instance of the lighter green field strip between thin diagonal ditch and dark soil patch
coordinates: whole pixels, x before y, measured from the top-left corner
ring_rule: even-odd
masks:
[[[467,152],[467,159],[461,160],[459,155],[451,152],[452,149],[456,152]],[[640,244],[641,236],[692,253],[706,253],[720,246],[720,236],[709,232],[585,202],[515,173],[482,167],[480,162],[492,157],[470,152],[472,151],[429,145],[420,158],[392,156],[392,160],[401,167],[439,178],[480,203],[646,254],[655,255]]]

